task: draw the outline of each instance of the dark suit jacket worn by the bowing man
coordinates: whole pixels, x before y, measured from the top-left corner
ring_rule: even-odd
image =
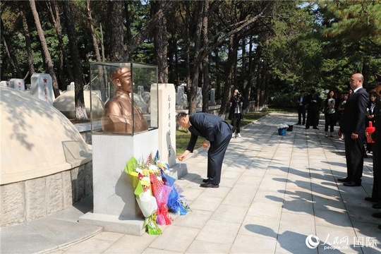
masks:
[[[211,147],[216,147],[232,133],[229,123],[222,120],[221,117],[209,113],[195,113],[189,116],[191,127],[191,140],[189,140],[186,150],[193,152],[198,136],[205,138],[210,142]]]

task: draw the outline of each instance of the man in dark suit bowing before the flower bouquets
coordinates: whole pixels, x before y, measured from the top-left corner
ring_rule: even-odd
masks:
[[[221,181],[222,161],[224,160],[226,149],[231,140],[233,126],[222,120],[219,116],[208,113],[195,113],[188,115],[179,113],[176,117],[179,126],[188,128],[191,132],[186,151],[179,157],[185,159],[190,152],[193,152],[198,137],[205,138],[202,147],[210,148],[207,151],[207,179],[202,180],[200,185],[203,188],[218,188]]]

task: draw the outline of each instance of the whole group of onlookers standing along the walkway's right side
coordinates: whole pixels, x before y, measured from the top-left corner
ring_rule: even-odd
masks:
[[[298,98],[298,124],[305,123],[306,111],[303,110],[307,110],[306,128],[317,128],[322,107],[325,137],[334,138],[334,126],[339,121],[338,133],[344,139],[347,176],[337,181],[344,186],[361,186],[364,157],[367,157],[366,143],[366,150],[373,154],[373,190],[372,195],[365,197],[365,200],[374,202],[373,208],[381,209],[381,74],[375,74],[374,86],[369,91],[363,87],[363,80],[361,73],[351,75],[351,90],[341,97],[335,96],[335,92],[330,90],[324,104],[315,90],[307,96],[301,92]],[[375,127],[373,133],[366,132],[369,122]],[[372,216],[381,218],[381,212],[375,212]],[[381,225],[378,228],[381,229]]]

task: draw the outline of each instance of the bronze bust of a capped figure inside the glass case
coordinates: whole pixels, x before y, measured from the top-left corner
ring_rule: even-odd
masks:
[[[131,68],[122,66],[111,73],[111,82],[116,87],[114,97],[104,105],[102,129],[105,133],[139,133],[148,130],[148,122],[130,94],[133,91],[131,83]],[[132,127],[134,129],[132,129]]]

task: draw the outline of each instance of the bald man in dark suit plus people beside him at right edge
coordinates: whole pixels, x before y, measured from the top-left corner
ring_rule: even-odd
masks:
[[[365,200],[374,202],[373,208],[381,209],[381,75],[375,74],[374,87],[368,93],[363,89],[363,75],[351,76],[351,95],[346,103],[340,123],[340,131],[344,133],[347,176],[337,179],[344,186],[361,186],[363,175],[363,143],[365,138],[373,153],[373,190]],[[373,121],[375,131],[367,133],[365,121]],[[375,212],[373,217],[381,218],[381,212]],[[378,226],[381,229],[381,225]]]

